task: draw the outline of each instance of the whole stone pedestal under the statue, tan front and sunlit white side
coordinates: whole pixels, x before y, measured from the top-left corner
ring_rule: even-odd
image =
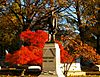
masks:
[[[43,50],[43,70],[39,77],[64,77],[60,69],[60,49],[58,44],[45,44]]]

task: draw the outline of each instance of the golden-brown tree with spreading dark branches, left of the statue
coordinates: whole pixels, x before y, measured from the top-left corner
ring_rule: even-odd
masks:
[[[5,39],[7,40],[1,43],[1,46],[4,46],[4,48],[2,49],[1,47],[1,49],[4,51],[5,49],[9,49],[9,46],[14,46],[12,41],[14,41],[16,37],[19,38],[19,34],[22,31],[27,29],[33,31],[37,29],[47,29],[48,24],[50,25],[48,18],[51,17],[51,12],[54,11],[56,13],[65,10],[62,10],[62,8],[70,6],[65,6],[65,3],[67,3],[66,0],[62,2],[59,0],[57,0],[57,2],[54,2],[54,0],[7,0],[5,4],[1,4],[6,8],[5,10],[0,10],[0,21],[5,21],[5,23],[0,23],[1,29],[3,25],[5,26],[1,31],[3,33],[6,31],[5,36],[2,36],[3,33],[1,34],[1,39],[6,37]],[[2,9],[4,8],[2,7]],[[3,21],[4,17],[6,17],[6,20]],[[10,25],[13,27],[10,27]],[[8,30],[6,30],[6,27]],[[8,31],[10,31],[9,34]],[[10,35],[13,35],[12,40]],[[16,39],[16,41],[19,43],[19,40]]]

